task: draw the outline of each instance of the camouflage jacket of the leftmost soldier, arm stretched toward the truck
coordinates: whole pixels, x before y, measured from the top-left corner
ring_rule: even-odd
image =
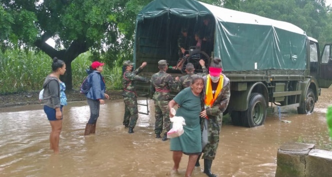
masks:
[[[136,97],[136,81],[143,81],[148,83],[149,79],[143,76],[137,75],[139,72],[141,72],[142,69],[138,67],[134,71],[124,71],[123,76],[122,76],[122,87],[123,87],[123,92],[122,96],[127,96],[127,97]]]

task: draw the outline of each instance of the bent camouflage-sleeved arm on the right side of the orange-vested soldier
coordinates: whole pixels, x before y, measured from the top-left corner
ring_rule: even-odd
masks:
[[[225,85],[222,88],[221,91],[222,91],[221,92],[221,98],[218,100],[219,103],[215,104],[212,107],[207,107],[206,108],[206,114],[207,115],[216,116],[219,113],[226,110],[228,102],[229,102],[229,97],[230,97],[229,82],[227,83],[227,85]]]

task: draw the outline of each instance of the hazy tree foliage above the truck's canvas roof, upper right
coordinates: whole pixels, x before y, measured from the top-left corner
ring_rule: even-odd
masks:
[[[290,22],[318,40],[331,36],[327,34],[327,31],[331,31],[328,27],[331,22],[330,7],[325,5],[325,0],[243,0],[240,2],[240,9]]]

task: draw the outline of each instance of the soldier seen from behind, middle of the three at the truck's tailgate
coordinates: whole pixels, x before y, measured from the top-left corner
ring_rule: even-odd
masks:
[[[163,134],[162,140],[167,140],[167,132],[170,129],[168,101],[171,99],[170,91],[176,90],[177,83],[174,82],[173,77],[166,73],[166,60],[158,61],[159,72],[151,76],[150,93],[154,100],[154,133],[155,138],[160,138],[160,133]],[[178,80],[178,77],[175,78]],[[162,127],[163,126],[163,127]]]

